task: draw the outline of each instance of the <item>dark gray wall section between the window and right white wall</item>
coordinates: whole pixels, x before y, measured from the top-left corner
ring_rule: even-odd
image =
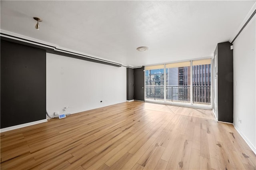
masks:
[[[230,42],[218,43],[218,121],[233,123],[233,50]]]

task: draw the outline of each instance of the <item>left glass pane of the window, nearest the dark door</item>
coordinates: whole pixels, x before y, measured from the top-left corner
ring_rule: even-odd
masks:
[[[164,100],[164,69],[150,69],[145,71],[145,99]]]

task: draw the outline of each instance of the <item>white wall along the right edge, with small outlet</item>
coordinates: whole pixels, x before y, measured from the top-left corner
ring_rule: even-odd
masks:
[[[234,41],[234,126],[256,152],[256,19]],[[241,119],[241,123],[238,121]]]

